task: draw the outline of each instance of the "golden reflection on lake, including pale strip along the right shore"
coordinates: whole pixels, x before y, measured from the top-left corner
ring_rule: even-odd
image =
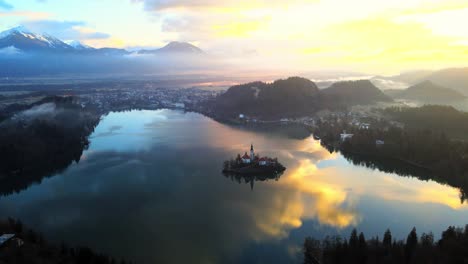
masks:
[[[409,204],[440,204],[453,210],[468,208],[461,204],[457,189],[432,181],[389,176],[379,171],[361,173],[367,170],[363,167],[346,172],[333,166],[319,168],[318,162],[335,160],[338,156],[330,154],[312,139],[301,143],[297,146],[298,152],[291,153],[291,158],[298,162],[281,177],[281,184],[268,182],[269,187],[276,189],[270,201],[270,206],[275,209],[252,212],[260,230],[255,239],[261,240],[264,236],[284,238],[291,229],[299,228],[303,221],[311,219],[337,228],[355,226],[361,221],[356,205],[364,195]],[[304,152],[313,157],[297,156]]]

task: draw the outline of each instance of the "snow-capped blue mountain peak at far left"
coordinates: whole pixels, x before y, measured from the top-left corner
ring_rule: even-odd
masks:
[[[0,33],[0,49],[15,47],[28,52],[72,51],[73,47],[48,34],[37,34],[25,27],[15,27]]]

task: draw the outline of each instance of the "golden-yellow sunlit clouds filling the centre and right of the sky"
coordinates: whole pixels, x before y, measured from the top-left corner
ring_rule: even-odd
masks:
[[[395,73],[468,59],[466,1],[176,1],[165,8],[197,25],[181,36],[202,47],[231,56],[249,47],[266,65],[289,69]]]

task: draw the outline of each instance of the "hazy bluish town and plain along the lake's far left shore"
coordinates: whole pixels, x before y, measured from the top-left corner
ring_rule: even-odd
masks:
[[[49,96],[73,96],[83,108],[93,108],[97,113],[106,114],[132,109],[195,111],[201,102],[223,91],[210,87],[160,86],[156,81],[0,86],[0,120]]]

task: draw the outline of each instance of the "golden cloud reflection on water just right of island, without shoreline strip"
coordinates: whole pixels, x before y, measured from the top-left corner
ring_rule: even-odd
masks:
[[[308,152],[319,160],[336,157],[312,139],[298,142],[297,147],[302,147],[298,149],[301,155]],[[281,176],[281,184],[267,182],[268,193],[259,195],[269,197],[268,205],[263,205],[262,210],[258,207],[249,210],[258,230],[252,232],[253,239],[285,238],[292,229],[300,228],[304,220],[310,219],[337,228],[358,224],[360,217],[352,199],[342,186],[327,182],[327,173],[319,170],[310,159],[300,159]]]

